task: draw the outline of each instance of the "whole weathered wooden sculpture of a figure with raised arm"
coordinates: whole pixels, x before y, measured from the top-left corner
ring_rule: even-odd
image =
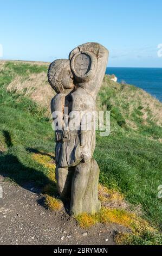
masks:
[[[57,189],[63,200],[70,199],[70,215],[74,216],[82,212],[94,214],[101,207],[99,166],[93,159],[95,120],[94,115],[87,117],[95,111],[107,59],[105,47],[88,42],[70,52],[69,60],[55,60],[48,70],[48,81],[57,93],[51,100],[51,112],[57,121]],[[68,107],[66,114],[64,107]]]

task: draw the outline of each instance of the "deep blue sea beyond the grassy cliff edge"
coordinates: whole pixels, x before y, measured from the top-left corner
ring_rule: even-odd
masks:
[[[133,84],[144,89],[162,102],[162,68],[107,68],[106,74],[114,74],[119,83]]]

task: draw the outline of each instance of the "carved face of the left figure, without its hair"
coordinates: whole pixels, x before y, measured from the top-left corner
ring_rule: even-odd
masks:
[[[74,88],[73,74],[70,69],[70,66],[64,68],[60,75],[60,81],[64,89],[72,89]]]

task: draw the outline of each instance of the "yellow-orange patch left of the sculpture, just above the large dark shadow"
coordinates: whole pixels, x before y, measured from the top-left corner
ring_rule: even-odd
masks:
[[[56,182],[56,178],[55,178],[55,168],[56,168],[56,164],[54,161],[54,155],[51,153],[34,153],[32,155],[33,159],[37,162],[42,164],[43,167],[47,168],[48,170],[48,178],[51,181]]]

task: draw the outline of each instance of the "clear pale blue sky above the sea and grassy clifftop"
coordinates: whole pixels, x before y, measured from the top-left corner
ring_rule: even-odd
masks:
[[[5,0],[1,59],[51,62],[77,45],[108,48],[108,66],[161,67],[161,0]]]

